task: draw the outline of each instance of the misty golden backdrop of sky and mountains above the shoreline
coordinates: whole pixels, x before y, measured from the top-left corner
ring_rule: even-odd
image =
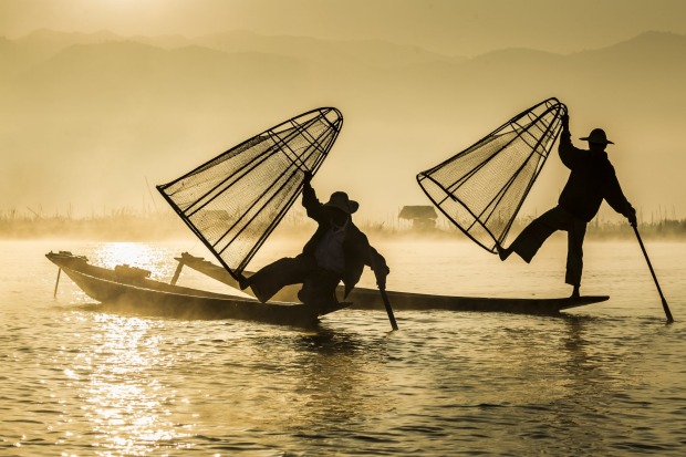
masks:
[[[516,8],[517,7],[517,8]],[[652,8],[651,8],[652,7]],[[0,211],[172,211],[154,188],[304,111],[343,129],[313,180],[358,218],[554,96],[603,127],[644,220],[686,217],[686,14],[655,1],[0,0]],[[557,149],[557,147],[555,147]],[[520,215],[557,201],[553,153]],[[604,206],[602,215],[613,217]]]

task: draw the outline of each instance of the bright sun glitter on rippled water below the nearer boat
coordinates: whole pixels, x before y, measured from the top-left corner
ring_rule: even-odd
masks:
[[[98,454],[147,455],[188,436],[169,419],[175,392],[154,375],[167,363],[154,322],[98,314],[94,324],[81,363],[91,368],[84,409]]]

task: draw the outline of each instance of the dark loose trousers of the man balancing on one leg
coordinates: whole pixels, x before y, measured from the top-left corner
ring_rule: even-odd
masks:
[[[517,252],[527,263],[543,242],[558,230],[567,231],[567,274],[564,282],[581,285],[583,270],[583,238],[586,235],[586,221],[572,215],[564,208],[555,206],[533,219],[512,241],[510,250]]]

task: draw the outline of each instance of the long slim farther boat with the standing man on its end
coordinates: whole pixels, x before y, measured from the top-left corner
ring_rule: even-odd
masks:
[[[200,257],[191,256],[187,252],[181,253],[176,260],[179,262],[174,274],[173,282],[178,279],[181,268],[188,266],[210,278],[214,278],[227,285],[238,289],[237,281],[221,267],[211,263]],[[248,271],[243,274],[250,276]],[[298,301],[298,285],[283,288],[274,300],[287,302]],[[250,289],[245,290],[251,293]],[[343,288],[339,287],[339,297],[343,295]],[[509,312],[526,314],[559,315],[560,311],[570,308],[582,307],[591,303],[599,303],[610,299],[607,295],[588,295],[578,299],[572,298],[486,298],[486,297],[450,297],[433,295],[426,293],[412,293],[386,291],[386,294],[394,310],[451,310],[451,311],[478,311],[478,312]],[[384,303],[378,290],[355,288],[346,300],[352,302],[351,309],[363,310],[384,310]]]

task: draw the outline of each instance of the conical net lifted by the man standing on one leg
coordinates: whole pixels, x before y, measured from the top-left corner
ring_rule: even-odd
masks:
[[[562,128],[567,107],[548,98],[417,175],[440,211],[490,252],[501,245]]]

